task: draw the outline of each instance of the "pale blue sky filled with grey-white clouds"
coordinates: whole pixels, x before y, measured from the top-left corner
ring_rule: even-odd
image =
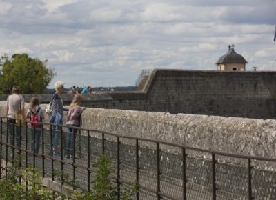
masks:
[[[48,60],[70,86],[135,86],[141,70],[216,70],[235,45],[275,70],[276,0],[0,0],[0,53]]]

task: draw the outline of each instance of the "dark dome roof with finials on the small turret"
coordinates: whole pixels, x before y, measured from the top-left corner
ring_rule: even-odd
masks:
[[[242,55],[235,52],[234,46],[232,46],[232,48],[229,46],[227,54],[220,57],[216,64],[218,65],[221,63],[247,63],[247,61]]]

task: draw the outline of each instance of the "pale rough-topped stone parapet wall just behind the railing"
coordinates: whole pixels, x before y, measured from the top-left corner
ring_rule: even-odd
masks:
[[[5,105],[0,101],[1,116],[5,116]],[[82,126],[206,150],[260,157],[276,154],[276,120],[273,119],[87,108]]]

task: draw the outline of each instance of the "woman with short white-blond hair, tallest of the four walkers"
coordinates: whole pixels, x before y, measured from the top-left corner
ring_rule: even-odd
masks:
[[[62,81],[57,81],[55,83],[55,94],[52,97],[52,114],[50,116],[50,123],[55,123],[57,125],[62,124],[63,116],[63,101],[61,99],[61,93],[63,91],[64,83]],[[52,132],[52,154],[56,154],[57,147],[59,146],[61,126],[53,126]]]

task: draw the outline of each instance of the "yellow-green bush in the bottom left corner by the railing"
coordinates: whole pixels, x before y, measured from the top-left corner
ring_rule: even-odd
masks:
[[[39,172],[35,168],[20,168],[21,156],[14,159],[14,164],[9,168],[5,177],[0,179],[0,199],[64,199],[59,194],[53,194],[41,183]]]

